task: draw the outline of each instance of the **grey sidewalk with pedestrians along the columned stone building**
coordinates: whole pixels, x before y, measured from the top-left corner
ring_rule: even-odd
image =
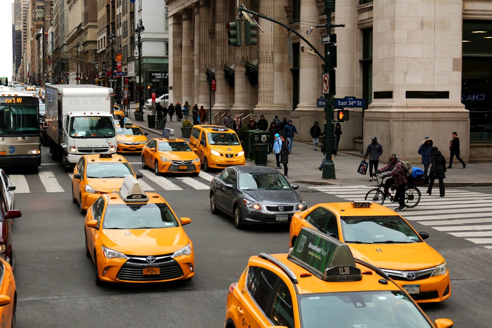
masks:
[[[142,129],[149,132],[157,133],[161,135],[162,131],[149,128],[147,115],[151,114],[151,110],[144,105],[144,121],[135,121],[133,113],[138,108],[138,104],[130,104],[130,117],[129,119],[139,125]],[[176,116],[173,117],[173,121],[168,121],[166,127],[174,129],[176,136],[181,136],[181,123],[176,121]],[[190,117],[191,120],[191,117]],[[189,141],[187,138],[184,140]],[[449,155],[443,153],[444,156]],[[363,154],[359,151],[338,151],[338,156],[333,160],[335,165],[336,179],[322,179],[322,172],[318,169],[323,159],[323,153],[318,147],[318,151],[312,149],[312,144],[305,144],[294,141],[292,146],[292,154],[289,155],[289,181],[302,182],[314,185],[372,185],[374,182],[369,182],[368,175],[360,175],[357,173],[357,168],[361,162]],[[449,158],[446,158],[449,161]],[[456,160],[456,159],[455,159]],[[254,162],[246,160],[246,165],[254,165]],[[270,154],[268,156],[267,165],[269,167],[275,167],[275,155]],[[386,163],[379,163],[379,168],[386,165]],[[415,165],[414,165],[415,166]],[[416,165],[424,169],[423,165]],[[488,171],[490,163],[467,163],[466,169],[461,168],[460,163],[455,163],[453,169],[448,169],[446,172],[446,179],[444,183],[446,187],[462,187],[462,186],[492,186],[492,174]],[[279,170],[283,173],[283,169]],[[438,188],[439,183],[434,182],[434,188]]]

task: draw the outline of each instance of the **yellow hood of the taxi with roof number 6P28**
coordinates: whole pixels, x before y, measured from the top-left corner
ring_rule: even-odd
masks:
[[[442,264],[444,258],[425,242],[407,244],[348,244],[355,258],[378,268],[418,270]]]

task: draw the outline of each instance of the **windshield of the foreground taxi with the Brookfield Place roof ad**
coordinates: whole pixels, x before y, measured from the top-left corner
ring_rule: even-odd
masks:
[[[433,327],[401,291],[300,295],[299,306],[303,328]]]

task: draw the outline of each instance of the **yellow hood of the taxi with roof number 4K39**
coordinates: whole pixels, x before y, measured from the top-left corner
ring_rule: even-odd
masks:
[[[174,253],[190,240],[182,227],[155,229],[104,229],[102,244],[127,255]]]

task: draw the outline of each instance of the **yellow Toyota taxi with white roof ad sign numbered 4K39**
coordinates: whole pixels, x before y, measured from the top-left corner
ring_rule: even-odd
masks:
[[[95,283],[190,280],[195,274],[193,244],[171,206],[145,193],[128,175],[118,193],[101,195],[85,219],[86,255]]]

